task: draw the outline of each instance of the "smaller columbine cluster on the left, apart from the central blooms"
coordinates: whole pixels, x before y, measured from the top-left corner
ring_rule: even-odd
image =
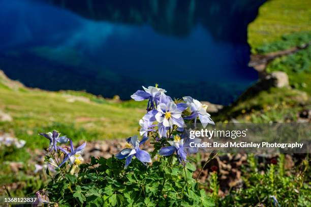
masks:
[[[47,133],[40,133],[40,135],[46,137],[50,141],[48,148],[48,169],[50,169],[51,166],[55,166],[56,169],[58,169],[59,167],[63,166],[67,161],[69,161],[70,165],[74,165],[71,169],[71,172],[73,172],[76,166],[82,163],[83,158],[81,156],[81,153],[86,146],[86,142],[74,149],[72,140],[69,139],[67,136],[60,136],[60,133],[58,133],[56,130]],[[70,142],[70,147],[57,146],[57,143],[68,142]],[[41,170],[42,168],[44,168],[44,166],[36,166],[37,171]]]

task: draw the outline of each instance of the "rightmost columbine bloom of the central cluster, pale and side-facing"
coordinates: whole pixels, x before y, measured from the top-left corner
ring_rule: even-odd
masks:
[[[210,114],[206,112],[207,105],[202,104],[200,101],[190,96],[183,97],[183,100],[189,105],[192,112],[192,114],[185,119],[194,119],[196,123],[197,117],[199,117],[204,128],[207,124],[214,124],[213,120],[210,118]]]

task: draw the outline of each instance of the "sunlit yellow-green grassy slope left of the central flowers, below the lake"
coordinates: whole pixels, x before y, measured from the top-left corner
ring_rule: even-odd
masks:
[[[0,122],[0,131],[13,132],[30,148],[46,145],[38,132],[53,129],[74,141],[130,136],[137,132],[144,104],[106,100],[85,92],[29,89],[0,75],[0,111],[13,118]]]

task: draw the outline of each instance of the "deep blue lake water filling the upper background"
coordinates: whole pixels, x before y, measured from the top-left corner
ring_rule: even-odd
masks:
[[[246,31],[263,2],[0,0],[0,68],[47,90],[129,99],[158,83],[227,105],[258,78]]]

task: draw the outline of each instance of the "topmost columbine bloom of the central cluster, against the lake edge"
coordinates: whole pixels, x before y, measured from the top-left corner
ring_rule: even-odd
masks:
[[[145,88],[143,86],[143,90],[137,90],[133,95],[131,95],[131,98],[137,101],[141,100],[148,100],[148,106],[147,110],[149,110],[149,107],[151,109],[155,109],[157,107],[161,94],[164,94],[166,90],[158,87],[149,86],[148,88]],[[154,101],[154,102],[153,102]],[[155,105],[154,105],[155,104]]]

